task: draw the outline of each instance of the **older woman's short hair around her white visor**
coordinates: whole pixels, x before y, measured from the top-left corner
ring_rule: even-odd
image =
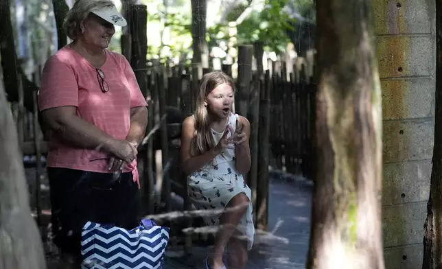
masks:
[[[71,10],[67,12],[63,23],[67,36],[74,40],[81,34],[80,23],[86,19],[89,13],[113,6],[114,3],[111,0],[76,0]]]

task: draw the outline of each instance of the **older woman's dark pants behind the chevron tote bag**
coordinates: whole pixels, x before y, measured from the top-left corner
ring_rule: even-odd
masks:
[[[82,226],[88,221],[133,229],[139,224],[138,186],[132,172],[113,174],[47,167],[51,233],[62,255],[81,261]]]

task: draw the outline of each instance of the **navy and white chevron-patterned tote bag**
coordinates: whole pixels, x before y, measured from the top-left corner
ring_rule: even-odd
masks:
[[[82,229],[82,269],[161,269],[169,231],[147,219],[132,230],[87,222]]]

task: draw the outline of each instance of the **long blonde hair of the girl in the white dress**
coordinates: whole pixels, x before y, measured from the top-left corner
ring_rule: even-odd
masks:
[[[197,156],[214,148],[215,141],[210,130],[209,113],[204,105],[207,95],[220,84],[229,84],[235,91],[233,80],[222,71],[213,71],[202,76],[198,86],[199,93],[196,97],[196,110],[194,113],[195,136],[191,143],[191,155]]]

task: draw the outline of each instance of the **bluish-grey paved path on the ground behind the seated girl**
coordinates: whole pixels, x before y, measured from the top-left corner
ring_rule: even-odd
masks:
[[[258,237],[247,269],[304,269],[310,233],[312,186],[299,180],[270,182],[269,231]],[[194,248],[187,258],[167,259],[164,269],[202,267],[207,249]]]

